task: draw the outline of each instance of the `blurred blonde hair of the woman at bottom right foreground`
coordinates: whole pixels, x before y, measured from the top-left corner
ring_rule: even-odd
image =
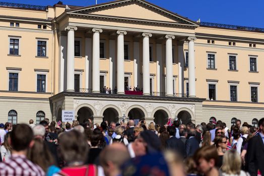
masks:
[[[222,171],[227,174],[240,174],[241,157],[239,153],[232,149],[227,150],[224,154]]]

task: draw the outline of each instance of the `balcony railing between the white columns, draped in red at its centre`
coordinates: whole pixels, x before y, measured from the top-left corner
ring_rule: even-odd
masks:
[[[80,88],[79,90],[76,90],[75,92],[92,93],[92,89]],[[106,93],[102,93],[101,92],[101,94],[106,94]],[[138,96],[141,96],[141,95],[143,95],[143,93],[142,92],[136,92],[136,91],[125,91],[125,95],[138,95]],[[154,96],[154,97],[166,97],[166,93],[165,92],[151,92],[151,96]],[[186,97],[188,97],[188,95],[187,94],[174,93],[173,97],[185,97],[186,98]]]

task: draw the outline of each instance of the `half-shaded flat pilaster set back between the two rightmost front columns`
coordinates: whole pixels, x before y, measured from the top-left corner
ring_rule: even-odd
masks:
[[[178,84],[180,94],[184,94],[184,51],[183,51],[184,42],[178,41]]]

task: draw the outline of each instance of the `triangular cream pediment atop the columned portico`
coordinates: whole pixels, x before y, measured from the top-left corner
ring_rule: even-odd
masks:
[[[143,0],[120,0],[91,7],[71,10],[68,14],[91,15],[133,21],[152,21],[168,24],[194,25],[191,20],[164,10]]]

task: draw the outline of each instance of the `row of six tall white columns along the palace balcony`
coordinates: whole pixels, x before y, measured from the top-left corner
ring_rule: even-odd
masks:
[[[68,26],[67,42],[67,91],[74,92],[74,31],[77,27]],[[100,93],[100,33],[102,29],[92,29],[92,92]],[[117,94],[124,94],[124,35],[126,31],[117,31]],[[149,67],[149,38],[151,33],[143,33],[143,95],[150,95],[150,67]],[[172,67],[172,39],[173,35],[166,35],[166,96],[173,96],[173,67]],[[188,37],[188,77],[189,97],[195,97],[195,63],[194,39]],[[180,71],[180,70],[179,70]],[[183,76],[183,75],[182,75]],[[180,79],[180,78],[179,78]]]

